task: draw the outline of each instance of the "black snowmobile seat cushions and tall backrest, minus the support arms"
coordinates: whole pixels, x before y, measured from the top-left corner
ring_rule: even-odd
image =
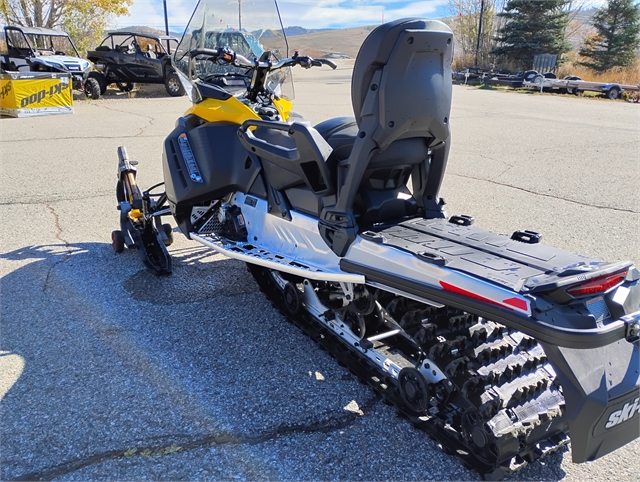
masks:
[[[382,221],[383,213],[385,218],[416,213],[418,205],[407,202],[406,190],[400,195],[398,189],[413,167],[428,158],[429,148],[449,137],[451,87],[447,89],[445,64],[450,64],[451,44],[451,31],[437,21],[402,19],[377,27],[360,48],[353,69],[355,118],[316,126],[333,148],[332,157],[349,171],[359,171],[357,199],[352,183],[345,182],[343,193],[352,198],[344,204],[356,207],[359,224]],[[357,144],[361,148],[354,154]],[[368,195],[365,189],[388,192],[385,198]],[[374,205],[367,206],[370,203]]]

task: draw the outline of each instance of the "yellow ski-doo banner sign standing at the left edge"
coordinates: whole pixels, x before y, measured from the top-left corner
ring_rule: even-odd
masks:
[[[11,117],[73,114],[71,76],[48,72],[1,74],[0,113]]]

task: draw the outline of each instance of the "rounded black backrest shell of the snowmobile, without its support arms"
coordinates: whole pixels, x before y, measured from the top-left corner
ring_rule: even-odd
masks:
[[[437,20],[396,20],[366,38],[353,68],[351,102],[359,126],[366,115],[378,118],[379,147],[402,137],[448,138],[452,56],[453,34]],[[373,89],[377,112],[363,111]]]

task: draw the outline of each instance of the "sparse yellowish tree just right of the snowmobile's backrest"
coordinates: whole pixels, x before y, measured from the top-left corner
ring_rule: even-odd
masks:
[[[494,19],[496,10],[503,0],[484,0],[482,9],[482,32],[478,48],[478,64],[486,66],[489,63],[489,52],[493,47]],[[467,65],[475,62],[478,47],[478,28],[480,26],[480,0],[448,0],[451,14],[451,29],[456,39],[457,57]]]

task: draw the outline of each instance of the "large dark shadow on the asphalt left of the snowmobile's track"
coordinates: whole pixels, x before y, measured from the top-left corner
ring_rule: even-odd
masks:
[[[251,460],[249,480],[273,479],[274,464],[291,480],[478,477],[286,323],[243,263],[200,247],[171,253],[163,277],[103,243],[0,255],[21,264],[0,280],[0,353],[22,360],[2,400],[0,478],[131,478],[131,458],[148,476],[147,465],[175,467],[194,451]],[[559,480],[562,460],[512,480]],[[184,470],[173,478],[197,478]],[[220,470],[214,479],[228,477]]]

